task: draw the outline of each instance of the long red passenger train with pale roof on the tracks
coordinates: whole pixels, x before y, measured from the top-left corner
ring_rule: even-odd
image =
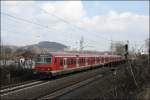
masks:
[[[36,75],[55,76],[123,60],[124,57],[118,55],[55,52],[38,55],[33,70]]]

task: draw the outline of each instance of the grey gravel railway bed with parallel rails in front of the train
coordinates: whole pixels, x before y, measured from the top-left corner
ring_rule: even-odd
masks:
[[[110,68],[97,68],[78,74],[50,79],[48,81],[36,81],[1,91],[1,99],[46,99],[47,97],[59,97],[67,92],[73,91],[90,82],[102,78],[110,73]],[[56,95],[58,94],[58,95]]]

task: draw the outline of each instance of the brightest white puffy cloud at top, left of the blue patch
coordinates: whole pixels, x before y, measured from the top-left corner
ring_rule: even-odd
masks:
[[[44,4],[42,7],[47,13],[62,16],[69,20],[80,20],[86,15],[81,1],[66,1],[55,4]]]

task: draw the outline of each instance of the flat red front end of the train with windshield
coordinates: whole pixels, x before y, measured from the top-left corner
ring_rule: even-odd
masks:
[[[35,60],[35,67],[33,68],[33,74],[36,77],[48,78],[51,77],[52,69],[52,55],[40,54]]]

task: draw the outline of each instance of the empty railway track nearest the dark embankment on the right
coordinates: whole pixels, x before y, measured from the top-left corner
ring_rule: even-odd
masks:
[[[120,68],[118,68],[117,70],[120,70]],[[76,82],[74,84],[71,84],[71,85],[68,85],[66,87],[63,87],[63,88],[60,88],[60,89],[57,89],[53,92],[51,92],[50,94],[48,95],[45,95],[43,97],[40,97],[40,98],[36,98],[37,100],[51,100],[51,99],[56,99],[57,98],[59,99],[59,97],[61,96],[65,96],[66,94],[68,93],[71,93],[72,91],[74,90],[77,90],[81,87],[84,87],[84,86],[87,86],[88,84],[92,83],[92,82],[96,82],[98,80],[101,80],[101,79],[104,79],[105,75],[106,74],[113,74],[112,71],[110,71],[109,73],[103,73],[103,74],[97,74],[89,79],[85,79],[85,80],[82,80],[82,81],[79,81],[79,82]]]

